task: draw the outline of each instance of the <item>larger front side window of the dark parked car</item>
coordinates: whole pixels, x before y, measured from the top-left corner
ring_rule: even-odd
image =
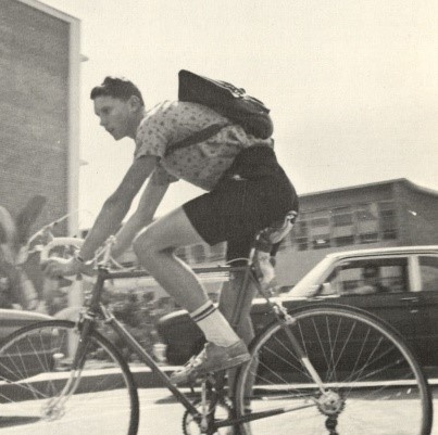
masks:
[[[350,261],[336,268],[328,277],[321,294],[365,295],[406,292],[409,290],[406,266],[406,258]]]

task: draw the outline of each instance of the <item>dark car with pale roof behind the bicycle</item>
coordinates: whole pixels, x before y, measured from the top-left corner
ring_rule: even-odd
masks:
[[[329,302],[371,311],[410,342],[423,366],[438,366],[438,246],[329,254],[279,298],[287,308]],[[251,317],[255,331],[271,322],[264,299],[254,299]],[[184,310],[161,318],[158,331],[171,364],[186,362],[203,344]]]

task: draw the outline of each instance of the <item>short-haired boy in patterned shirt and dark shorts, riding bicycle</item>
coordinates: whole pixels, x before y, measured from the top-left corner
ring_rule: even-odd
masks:
[[[139,89],[116,77],[107,77],[90,97],[100,125],[115,140],[134,139],[134,163],[104,202],[78,255],[50,260],[46,273],[59,277],[80,272],[96,250],[118,230],[148,179],[137,210],[116,233],[112,255],[120,256],[133,243],[140,265],[188,310],[205,335],[204,349],[172,376],[173,382],[193,381],[245,362],[249,359],[246,345],[253,336],[249,318],[253,294],[248,295],[236,334],[227,320],[236,304],[238,277],[222,292],[217,310],[192,270],[174,253],[179,246],[226,241],[228,261],[247,258],[261,230],[274,222],[287,226],[295,218],[297,194],[277,163],[273,140],[255,138],[233,124],[202,142],[168,154],[173,143],[228,119],[207,106],[182,101],[166,101],[146,111]],[[178,179],[207,193],[152,221],[170,183]]]

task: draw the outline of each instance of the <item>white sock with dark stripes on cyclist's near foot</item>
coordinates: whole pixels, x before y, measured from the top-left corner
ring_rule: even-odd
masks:
[[[228,347],[239,341],[238,335],[211,300],[190,312],[208,342]]]

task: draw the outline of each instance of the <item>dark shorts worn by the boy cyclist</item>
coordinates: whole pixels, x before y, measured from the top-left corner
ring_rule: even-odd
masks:
[[[228,242],[227,259],[246,258],[255,234],[298,212],[297,193],[273,150],[243,150],[211,191],[183,206],[210,245]]]

